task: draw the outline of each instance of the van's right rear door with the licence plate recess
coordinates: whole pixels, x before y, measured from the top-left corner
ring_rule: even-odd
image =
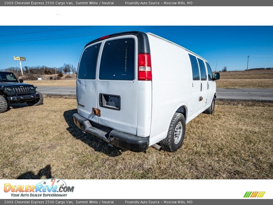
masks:
[[[98,123],[137,134],[138,39],[123,35],[102,41],[97,77]]]

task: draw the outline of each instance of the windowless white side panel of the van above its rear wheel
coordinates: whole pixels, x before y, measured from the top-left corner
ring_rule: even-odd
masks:
[[[192,71],[186,50],[153,35],[148,34],[148,38],[152,64],[152,142],[154,136],[168,130],[182,101],[191,104]]]

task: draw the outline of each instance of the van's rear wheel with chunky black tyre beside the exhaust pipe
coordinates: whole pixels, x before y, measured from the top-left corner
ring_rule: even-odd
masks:
[[[176,112],[171,120],[167,137],[160,142],[166,151],[175,152],[181,147],[186,130],[185,117]]]

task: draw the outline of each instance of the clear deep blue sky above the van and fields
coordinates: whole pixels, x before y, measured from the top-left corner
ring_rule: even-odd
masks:
[[[19,66],[77,67],[84,45],[116,32],[152,32],[202,56],[212,70],[273,67],[273,26],[0,26],[0,69]],[[48,40],[46,40],[48,39]]]

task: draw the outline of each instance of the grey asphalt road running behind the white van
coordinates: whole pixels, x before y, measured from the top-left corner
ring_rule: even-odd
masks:
[[[37,91],[49,95],[76,95],[76,87],[38,87]],[[217,99],[273,101],[273,89],[217,88]]]

